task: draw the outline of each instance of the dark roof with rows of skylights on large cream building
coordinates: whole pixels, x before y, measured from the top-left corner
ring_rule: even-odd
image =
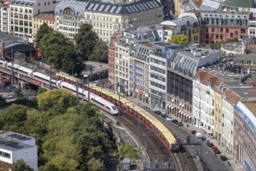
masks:
[[[86,11],[106,12],[114,14],[132,14],[149,9],[160,8],[162,5],[156,0],[132,2],[128,4],[111,4],[107,2],[89,2]]]

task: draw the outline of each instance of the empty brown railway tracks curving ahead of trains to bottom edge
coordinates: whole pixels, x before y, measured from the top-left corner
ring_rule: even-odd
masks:
[[[172,161],[174,162],[174,170],[198,170],[188,148],[181,146],[181,152],[171,153],[163,144],[163,141],[161,141],[161,139],[137,117],[134,117],[127,111],[122,110],[121,120],[125,120],[122,124],[124,124],[125,127],[128,127],[128,129],[136,135],[139,141],[141,141],[142,145],[144,145],[151,162],[156,161],[156,159],[159,162]]]

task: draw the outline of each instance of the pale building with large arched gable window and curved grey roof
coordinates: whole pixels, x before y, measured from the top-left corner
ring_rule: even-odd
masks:
[[[61,1],[54,9],[55,28],[63,33],[68,40],[74,41],[79,26],[85,21],[85,9],[87,2]]]

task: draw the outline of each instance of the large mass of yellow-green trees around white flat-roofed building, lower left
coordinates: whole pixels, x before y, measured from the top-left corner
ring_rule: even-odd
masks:
[[[65,89],[41,92],[37,99],[38,110],[16,104],[0,110],[0,129],[36,138],[38,170],[104,170],[110,141],[96,107]],[[30,170],[23,164],[13,170]]]

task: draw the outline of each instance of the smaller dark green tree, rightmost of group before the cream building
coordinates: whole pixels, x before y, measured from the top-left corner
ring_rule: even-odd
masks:
[[[93,49],[93,53],[89,55],[89,61],[99,61],[107,63],[108,61],[108,48],[106,42],[98,40]]]

